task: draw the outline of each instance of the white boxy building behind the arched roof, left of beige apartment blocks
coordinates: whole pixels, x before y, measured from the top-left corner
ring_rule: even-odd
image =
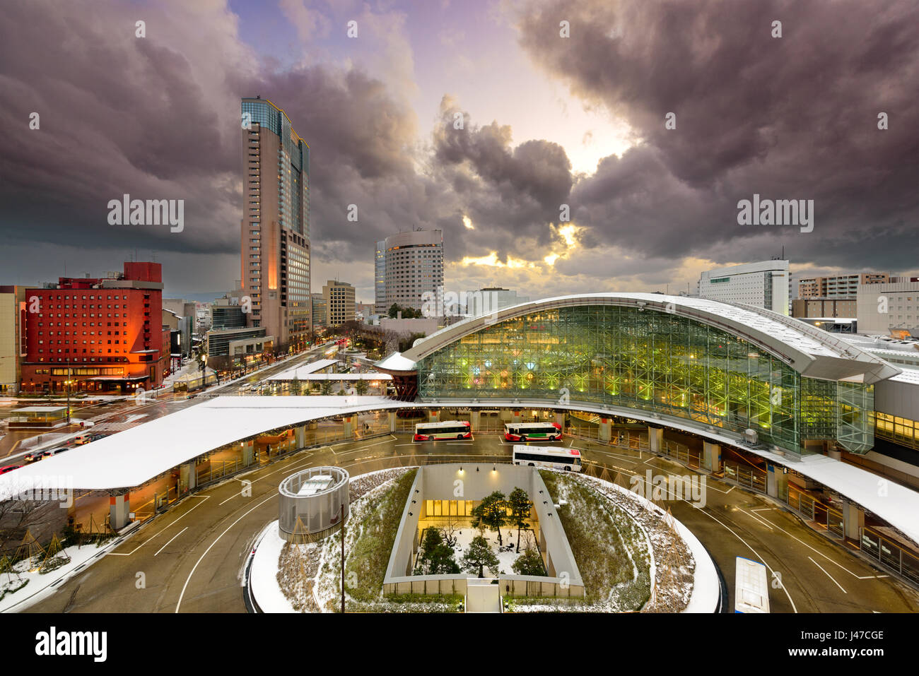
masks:
[[[789,314],[789,262],[760,261],[703,272],[698,296]]]

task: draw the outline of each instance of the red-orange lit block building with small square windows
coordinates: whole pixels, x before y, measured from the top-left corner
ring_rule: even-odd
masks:
[[[130,394],[163,384],[169,332],[163,331],[158,263],[125,263],[107,277],[60,277],[26,289],[24,392]],[[165,334],[165,340],[164,340]]]

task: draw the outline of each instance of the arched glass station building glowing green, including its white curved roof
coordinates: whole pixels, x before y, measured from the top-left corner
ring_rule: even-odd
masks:
[[[459,321],[378,367],[400,398],[582,409],[803,455],[874,445],[895,366],[770,310],[653,293],[542,299]],[[814,444],[820,442],[820,444]]]

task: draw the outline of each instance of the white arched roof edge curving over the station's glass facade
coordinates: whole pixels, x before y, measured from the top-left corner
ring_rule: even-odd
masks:
[[[423,357],[497,321],[513,319],[539,310],[584,305],[616,305],[688,317],[731,332],[776,355],[801,375],[808,377],[873,383],[900,371],[832,333],[771,310],[719,300],[657,293],[593,293],[531,300],[495,313],[459,321],[432,333],[400,355],[399,363],[403,365],[402,368],[382,366],[388,362],[389,357],[378,366],[393,370],[414,370],[415,364]],[[413,362],[412,366],[404,366],[404,360]]]

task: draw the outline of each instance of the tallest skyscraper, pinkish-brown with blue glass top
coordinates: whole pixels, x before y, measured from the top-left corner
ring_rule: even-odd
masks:
[[[310,146],[267,99],[244,98],[242,109],[246,321],[265,327],[277,347],[300,349],[312,326]]]

